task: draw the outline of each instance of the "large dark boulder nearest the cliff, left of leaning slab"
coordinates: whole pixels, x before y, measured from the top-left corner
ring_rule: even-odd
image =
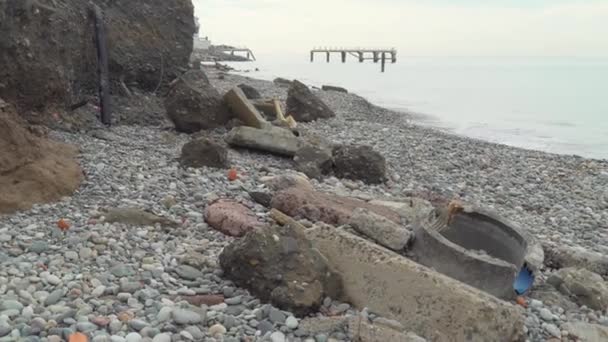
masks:
[[[220,127],[232,118],[222,96],[204,75],[200,70],[188,71],[167,94],[167,116],[180,132],[195,133]]]

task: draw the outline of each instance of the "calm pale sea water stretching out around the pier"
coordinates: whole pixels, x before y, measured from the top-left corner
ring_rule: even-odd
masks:
[[[398,56],[396,64],[257,56],[231,63],[255,78],[338,85],[418,124],[559,154],[608,159],[608,59]],[[255,71],[258,68],[259,71]]]

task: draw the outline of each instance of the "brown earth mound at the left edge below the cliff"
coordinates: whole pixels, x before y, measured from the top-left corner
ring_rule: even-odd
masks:
[[[0,213],[71,195],[83,178],[76,155],[72,146],[33,134],[0,100]]]

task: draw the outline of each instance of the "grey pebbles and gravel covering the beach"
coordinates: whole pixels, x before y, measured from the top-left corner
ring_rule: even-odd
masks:
[[[270,82],[210,73],[220,91],[246,83],[265,96],[285,99]],[[404,195],[459,197],[482,204],[527,228],[538,239],[608,253],[608,163],[495,145],[417,126],[412,116],[369,104],[354,94],[321,92],[335,119],[300,124],[303,134],[338,143],[369,144],[388,162],[391,180],[368,186],[328,178],[322,190],[378,198]],[[225,129],[206,133],[221,139]],[[51,132],[81,150],[81,188],[60,202],[0,217],[0,342],[34,335],[60,341],[83,331],[95,341],[348,340],[335,335],[295,337],[292,313],[263,304],[222,277],[217,256],[232,238],[210,229],[202,213],[214,198],[235,198],[261,219],[266,209],[247,191],[257,179],[293,168],[269,154],[230,150],[239,179],[226,170],[183,169],[176,160],[189,140],[155,127],[112,127],[103,133]],[[170,204],[168,204],[170,199]],[[106,223],[108,208],[138,208],[177,228]],[[71,223],[65,234],[59,219]],[[551,270],[539,275],[543,281]],[[225,303],[194,307],[184,300],[221,294]],[[348,304],[324,307],[356,315]],[[526,309],[530,341],[559,337],[566,322],[606,324],[606,312],[565,310],[532,300]],[[44,324],[43,324],[44,323]],[[212,329],[213,328],[213,329]],[[144,336],[142,336],[144,335]],[[144,339],[144,337],[146,339]],[[217,340],[217,339],[216,339]]]

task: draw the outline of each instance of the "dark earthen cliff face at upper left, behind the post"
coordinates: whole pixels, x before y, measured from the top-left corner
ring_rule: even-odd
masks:
[[[105,15],[110,76],[154,90],[186,68],[190,0],[96,0]],[[88,1],[0,0],[0,98],[19,112],[62,110],[97,91]]]

